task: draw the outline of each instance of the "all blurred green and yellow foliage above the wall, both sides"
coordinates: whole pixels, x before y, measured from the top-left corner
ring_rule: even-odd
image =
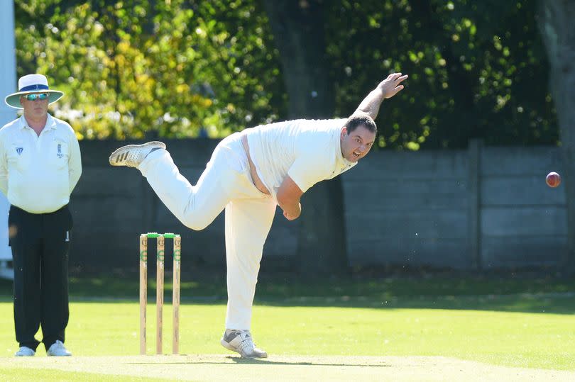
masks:
[[[388,73],[410,74],[383,103],[379,147],[559,143],[536,1],[315,1],[335,116]],[[28,0],[15,11],[18,77],[47,74],[66,93],[56,116],[84,139],[223,137],[287,116],[261,0]]]

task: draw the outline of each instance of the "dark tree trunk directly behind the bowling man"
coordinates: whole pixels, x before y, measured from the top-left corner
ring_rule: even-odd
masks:
[[[332,118],[321,0],[265,0],[288,90],[289,118]],[[297,220],[296,220],[297,221]],[[329,276],[347,270],[341,180],[322,181],[302,197],[300,274]]]

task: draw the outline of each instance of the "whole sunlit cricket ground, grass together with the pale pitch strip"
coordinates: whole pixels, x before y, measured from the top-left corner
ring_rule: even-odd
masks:
[[[387,288],[394,291],[394,285]],[[414,285],[419,287],[421,282]],[[148,293],[147,310],[150,355],[138,355],[136,296],[72,296],[65,343],[73,356],[47,357],[40,345],[33,358],[16,358],[12,303],[5,292],[0,300],[0,379],[575,381],[575,301],[566,288],[571,289],[571,284],[557,284],[547,293],[393,293],[383,297],[370,285],[358,291],[358,296],[307,298],[274,298],[274,293],[279,293],[262,288],[267,300],[254,306],[252,332],[269,358],[257,360],[241,359],[219,344],[226,305],[218,298],[184,298],[180,307],[181,355],[152,355],[153,293]],[[397,286],[397,290],[405,288]],[[470,289],[476,290],[477,286]],[[96,294],[92,288],[89,291]],[[310,291],[320,293],[319,289]],[[366,294],[368,291],[373,294]],[[169,294],[167,291],[166,296]],[[165,354],[172,345],[171,313],[167,303]]]

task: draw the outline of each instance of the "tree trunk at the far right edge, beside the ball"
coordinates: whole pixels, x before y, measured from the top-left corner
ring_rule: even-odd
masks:
[[[557,109],[564,159],[567,203],[567,252],[561,269],[575,271],[575,3],[541,0],[538,23],[547,50],[549,81]],[[537,79],[533,79],[534,82]],[[535,83],[536,85],[536,83]],[[534,86],[533,91],[537,91]]]

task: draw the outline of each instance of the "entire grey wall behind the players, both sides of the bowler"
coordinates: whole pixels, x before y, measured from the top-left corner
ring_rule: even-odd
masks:
[[[84,173],[70,205],[72,266],[135,271],[138,235],[157,231],[182,234],[182,267],[223,269],[223,214],[206,230],[188,230],[137,170],[109,167],[109,153],[125,143],[81,142]],[[217,142],[166,143],[194,184]],[[547,187],[544,176],[561,170],[559,150],[551,147],[471,142],[469,150],[372,152],[342,176],[349,263],[456,269],[557,264],[566,251],[565,196],[562,187]],[[278,209],[264,262],[295,261],[297,225]]]

